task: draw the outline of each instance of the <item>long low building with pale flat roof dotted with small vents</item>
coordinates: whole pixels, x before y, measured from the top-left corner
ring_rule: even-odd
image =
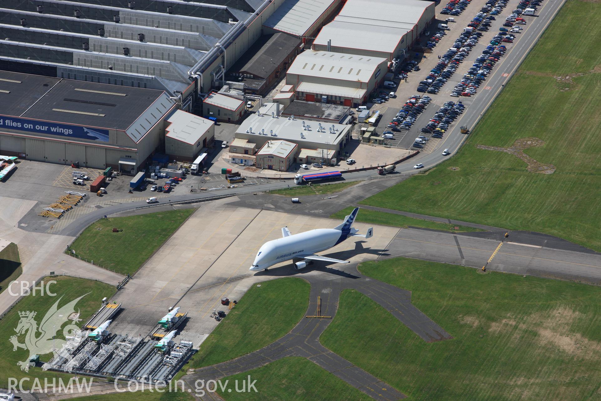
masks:
[[[319,123],[296,115],[284,117],[276,108],[277,103],[265,103],[257,113],[242,121],[236,130],[236,138],[248,139],[258,147],[267,141],[283,139],[299,148],[331,149],[336,155],[350,141],[350,125]]]

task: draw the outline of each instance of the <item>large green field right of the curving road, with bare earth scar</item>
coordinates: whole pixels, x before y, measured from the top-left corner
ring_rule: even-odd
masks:
[[[601,251],[600,19],[599,2],[566,2],[456,156],[364,203],[540,231]],[[585,32],[577,39],[575,26]],[[529,173],[514,155],[476,147],[531,137],[544,144],[524,152],[555,173]]]

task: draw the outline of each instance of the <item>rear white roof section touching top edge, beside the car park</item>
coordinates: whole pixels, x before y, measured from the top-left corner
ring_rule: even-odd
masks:
[[[414,25],[419,22],[431,1],[424,0],[348,0],[339,15],[358,19],[384,19],[408,22]]]

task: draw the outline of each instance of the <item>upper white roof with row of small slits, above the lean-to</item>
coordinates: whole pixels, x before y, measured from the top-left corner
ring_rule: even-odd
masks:
[[[289,74],[369,82],[385,58],[308,50],[296,56]]]

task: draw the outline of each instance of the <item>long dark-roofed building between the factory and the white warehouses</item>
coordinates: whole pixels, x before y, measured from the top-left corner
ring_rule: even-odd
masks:
[[[284,76],[301,44],[298,37],[282,32],[264,35],[231,67],[229,75],[243,82],[246,93],[265,94]]]

